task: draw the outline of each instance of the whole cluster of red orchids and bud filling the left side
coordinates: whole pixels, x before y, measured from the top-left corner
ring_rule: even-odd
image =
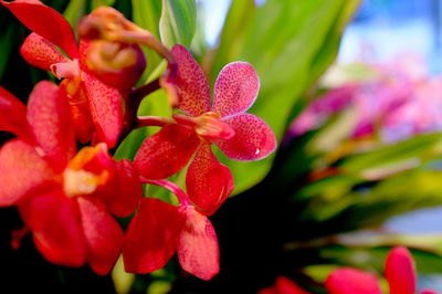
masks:
[[[126,271],[149,273],[178,252],[182,269],[210,280],[219,272],[219,248],[212,214],[233,189],[230,170],[211,150],[256,160],[271,154],[272,129],[246,114],[259,91],[259,77],[244,62],[227,65],[214,98],[191,54],[176,45],[168,51],[152,35],[110,8],[98,8],[78,23],[80,45],[67,21],[38,0],[1,1],[33,31],[21,54],[32,65],[63,78],[40,82],[28,108],[0,87],[0,130],[17,138],[0,149],[0,207],[17,206],[36,249],[55,264],[88,263],[106,274],[123,252]],[[133,90],[146,66],[139,45],[169,62],[156,81],[171,106],[183,114],[139,117],[140,125],[162,129],[146,138],[135,162],[114,160],[108,148],[134,127],[146,88]],[[66,57],[60,48],[69,57]],[[76,150],[76,140],[92,146]],[[164,180],[182,169],[187,192]],[[162,186],[179,199],[175,207],[143,198],[144,183]],[[126,234],[115,217],[136,209]]]

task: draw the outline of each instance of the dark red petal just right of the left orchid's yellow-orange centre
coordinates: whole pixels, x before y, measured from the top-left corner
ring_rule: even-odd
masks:
[[[129,160],[116,162],[115,177],[99,196],[107,209],[117,217],[126,218],[134,212],[141,200],[143,186]]]

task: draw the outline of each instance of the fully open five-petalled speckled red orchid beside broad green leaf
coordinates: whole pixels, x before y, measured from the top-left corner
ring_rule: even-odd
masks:
[[[135,166],[148,179],[164,179],[183,168],[193,154],[186,186],[190,200],[204,213],[213,213],[233,189],[230,170],[211,150],[215,144],[229,158],[257,160],[276,147],[272,129],[245,111],[256,98],[260,81],[245,62],[228,64],[218,76],[211,106],[209,83],[189,51],[175,45],[178,108],[175,122],[148,137],[135,157]],[[161,125],[161,119],[141,117],[141,124]],[[156,124],[158,123],[158,124]]]

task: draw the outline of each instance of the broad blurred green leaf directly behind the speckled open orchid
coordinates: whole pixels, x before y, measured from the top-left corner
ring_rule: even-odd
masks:
[[[214,56],[211,80],[229,62],[250,62],[261,80],[260,94],[250,113],[262,117],[281,141],[296,101],[336,56],[338,42],[328,41],[340,35],[355,2],[359,1],[267,0],[250,10],[245,9],[246,3],[234,3]],[[234,193],[259,182],[273,158],[238,162],[221,157],[233,174]]]

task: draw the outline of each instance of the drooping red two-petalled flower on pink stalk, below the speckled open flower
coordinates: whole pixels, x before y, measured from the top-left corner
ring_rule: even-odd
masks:
[[[123,246],[126,272],[150,273],[161,269],[178,252],[182,269],[199,279],[210,280],[220,270],[218,239],[209,219],[188,200],[173,182],[147,183],[172,191],[180,206],[156,198],[144,198],[131,219]]]

